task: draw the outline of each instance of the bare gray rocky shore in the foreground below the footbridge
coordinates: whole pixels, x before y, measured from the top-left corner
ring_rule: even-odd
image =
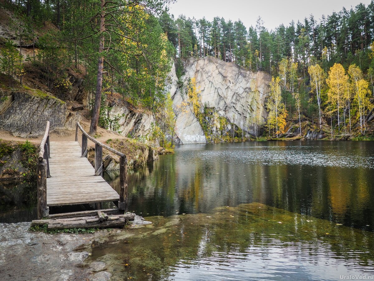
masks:
[[[91,234],[47,234],[30,230],[30,222],[0,223],[0,280],[109,280],[101,261],[85,263],[90,248],[111,233],[124,229],[99,230]],[[135,216],[129,228],[150,222]],[[83,250],[84,249],[84,250]]]

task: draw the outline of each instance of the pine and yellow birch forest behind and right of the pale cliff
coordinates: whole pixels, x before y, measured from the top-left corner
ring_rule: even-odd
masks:
[[[359,127],[373,118],[374,2],[315,19],[264,28],[215,17],[160,16],[163,30],[175,47],[175,57],[213,56],[274,77],[266,124],[269,136],[283,133],[286,121],[305,119],[331,125],[331,135]],[[331,68],[332,67],[332,68]],[[371,118],[370,118],[371,117]],[[325,119],[325,120],[324,120]],[[264,124],[261,124],[264,125]],[[373,133],[373,132],[371,132]]]

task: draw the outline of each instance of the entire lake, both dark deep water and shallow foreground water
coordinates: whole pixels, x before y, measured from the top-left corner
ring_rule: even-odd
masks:
[[[22,190],[0,188],[0,221],[30,219]],[[178,146],[129,172],[129,211],[153,224],[93,244],[88,262],[111,280],[369,278],[373,202],[374,142]]]

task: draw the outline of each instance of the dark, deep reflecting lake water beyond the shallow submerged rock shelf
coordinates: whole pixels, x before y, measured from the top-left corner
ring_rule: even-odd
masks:
[[[197,214],[260,202],[373,230],[373,167],[373,142],[183,145],[129,173],[129,208]]]

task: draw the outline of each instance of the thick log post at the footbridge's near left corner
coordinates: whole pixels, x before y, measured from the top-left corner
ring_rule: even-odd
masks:
[[[41,219],[49,215],[49,208],[47,206],[47,161],[45,159],[38,159],[37,188],[38,218]]]

